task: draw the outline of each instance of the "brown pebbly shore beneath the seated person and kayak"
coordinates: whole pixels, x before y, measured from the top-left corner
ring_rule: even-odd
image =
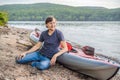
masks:
[[[58,63],[44,71],[32,68],[30,65],[16,64],[15,56],[28,49],[19,42],[31,45],[29,40],[31,31],[18,28],[8,30],[8,34],[0,35],[0,80],[95,80]],[[111,80],[120,80],[120,75]]]

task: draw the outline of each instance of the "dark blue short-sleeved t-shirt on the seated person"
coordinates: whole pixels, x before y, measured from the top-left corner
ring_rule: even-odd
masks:
[[[48,58],[52,58],[52,56],[59,51],[60,41],[64,40],[65,38],[62,32],[57,29],[52,35],[48,35],[48,30],[43,31],[39,39],[40,42],[44,42],[40,53]]]

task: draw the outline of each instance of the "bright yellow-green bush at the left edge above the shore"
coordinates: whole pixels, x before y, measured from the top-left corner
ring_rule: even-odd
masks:
[[[5,26],[8,22],[8,14],[0,11],[0,26]]]

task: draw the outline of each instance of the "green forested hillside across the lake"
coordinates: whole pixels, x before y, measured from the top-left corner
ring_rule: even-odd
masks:
[[[50,3],[0,6],[10,21],[43,21],[49,15],[59,21],[120,21],[120,8],[72,7]]]

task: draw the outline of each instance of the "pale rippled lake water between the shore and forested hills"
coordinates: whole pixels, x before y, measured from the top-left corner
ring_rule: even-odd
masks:
[[[8,25],[17,28],[46,30],[44,22],[9,21]],[[58,21],[65,38],[82,46],[95,48],[95,52],[120,60],[120,21],[118,22],[74,22]]]

